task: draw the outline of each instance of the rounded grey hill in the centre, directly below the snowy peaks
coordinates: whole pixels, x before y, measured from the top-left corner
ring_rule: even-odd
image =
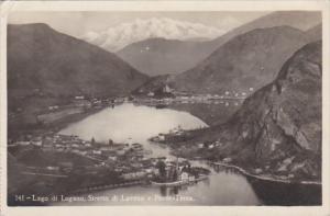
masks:
[[[140,71],[158,76],[188,70],[212,50],[205,42],[150,38],[125,46],[117,54]]]

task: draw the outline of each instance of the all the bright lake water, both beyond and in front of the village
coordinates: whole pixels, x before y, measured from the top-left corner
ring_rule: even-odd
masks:
[[[153,151],[152,157],[170,157],[167,148],[147,139],[180,126],[194,129],[208,126],[188,112],[155,109],[132,103],[108,107],[64,128],[61,134],[77,135],[82,139],[116,143],[140,143]],[[204,166],[193,161],[194,166]],[[85,197],[110,197],[95,202],[59,203],[59,205],[258,205],[245,177],[229,170],[211,170],[207,181],[176,189],[131,186],[82,194]]]

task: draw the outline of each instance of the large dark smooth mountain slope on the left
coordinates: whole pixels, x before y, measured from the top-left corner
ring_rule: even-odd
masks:
[[[146,80],[117,55],[46,24],[8,25],[10,104],[33,95],[122,95]]]

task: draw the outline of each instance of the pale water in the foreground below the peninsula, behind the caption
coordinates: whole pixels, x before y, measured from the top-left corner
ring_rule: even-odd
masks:
[[[142,197],[143,202],[95,202],[84,205],[260,205],[246,179],[235,173],[219,172],[208,181],[176,187],[132,186],[91,192],[86,196]],[[146,197],[155,197],[147,200]],[[163,197],[163,198],[162,198]],[[186,198],[178,202],[175,198]],[[61,205],[61,204],[59,204]],[[65,205],[65,204],[64,204]],[[76,203],[76,205],[78,205]]]

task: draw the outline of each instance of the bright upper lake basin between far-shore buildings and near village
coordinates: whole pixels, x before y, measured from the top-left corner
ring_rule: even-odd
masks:
[[[168,149],[151,144],[147,139],[178,126],[194,129],[208,125],[187,112],[124,103],[74,123],[59,134],[77,135],[86,140],[94,137],[96,141],[103,143],[108,143],[109,138],[114,143],[140,143],[145,149],[152,150],[152,157],[162,157],[168,156]]]

